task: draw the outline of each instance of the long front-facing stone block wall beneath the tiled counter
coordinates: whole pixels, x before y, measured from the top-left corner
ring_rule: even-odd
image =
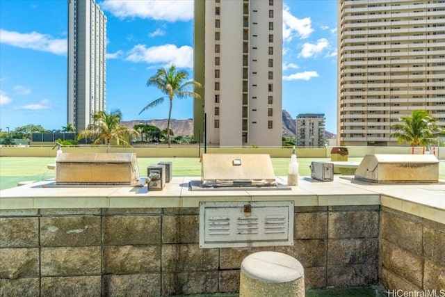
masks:
[[[294,246],[200,249],[198,218],[197,208],[3,210],[0,296],[235,292],[241,261],[260,250],[296,257],[307,288],[378,283],[379,205],[296,207]]]

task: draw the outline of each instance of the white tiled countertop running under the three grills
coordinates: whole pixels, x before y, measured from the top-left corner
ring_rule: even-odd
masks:
[[[382,204],[413,214],[419,214],[419,207],[423,206],[423,208],[432,209],[429,211],[435,211],[434,218],[440,215],[445,220],[445,184],[442,183],[355,184],[347,177],[336,175],[333,182],[319,182],[311,177],[300,177],[298,186],[291,186],[290,189],[284,190],[261,191],[246,188],[190,191],[188,183],[199,179],[200,177],[173,177],[162,191],[148,191],[146,185],[86,187],[54,186],[54,180],[35,182],[0,191],[0,210],[198,207],[201,201],[291,200],[296,207]],[[277,182],[286,184],[286,177],[277,177]],[[419,207],[414,207],[413,204]],[[420,211],[421,214],[424,212]]]

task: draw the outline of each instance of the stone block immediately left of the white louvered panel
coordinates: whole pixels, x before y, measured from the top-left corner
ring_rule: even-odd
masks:
[[[198,216],[163,216],[163,243],[199,243],[200,225]]]

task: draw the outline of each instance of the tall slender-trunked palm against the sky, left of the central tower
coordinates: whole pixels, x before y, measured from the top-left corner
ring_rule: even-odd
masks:
[[[155,86],[165,96],[154,100],[143,108],[140,113],[163,103],[165,98],[170,99],[170,109],[168,111],[167,131],[170,131],[170,120],[172,118],[172,106],[173,98],[185,98],[193,97],[200,99],[201,96],[193,91],[193,88],[201,88],[201,84],[197,81],[186,81],[188,79],[188,73],[181,70],[176,70],[175,65],[172,65],[170,69],[159,69],[153,77],[150,77],[147,81],[147,86]],[[184,82],[185,81],[185,82]],[[139,114],[140,114],[139,113]],[[168,146],[170,146],[170,134],[167,134]]]

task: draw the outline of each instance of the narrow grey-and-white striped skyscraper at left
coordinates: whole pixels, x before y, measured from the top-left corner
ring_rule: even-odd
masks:
[[[86,129],[105,109],[106,16],[95,0],[68,0],[67,122]]]

